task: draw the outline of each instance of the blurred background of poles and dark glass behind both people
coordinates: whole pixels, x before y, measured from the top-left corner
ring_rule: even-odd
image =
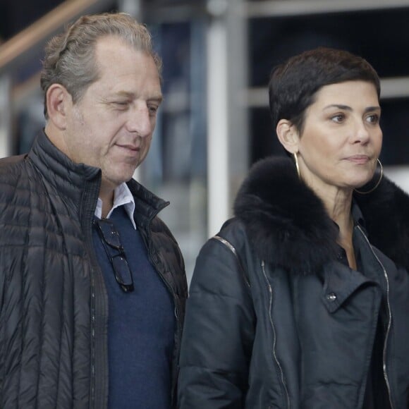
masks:
[[[231,216],[249,166],[282,154],[271,128],[271,68],[318,46],[348,49],[381,77],[385,173],[409,191],[409,0],[0,0],[0,157],[28,152],[44,126],[47,40],[81,14],[124,11],[146,23],[164,61],[164,104],[135,173],[169,200],[161,218],[188,277]]]

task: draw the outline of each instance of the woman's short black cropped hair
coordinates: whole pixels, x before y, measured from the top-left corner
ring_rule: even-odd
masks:
[[[365,59],[348,51],[319,47],[291,57],[274,68],[269,80],[269,105],[274,129],[280,119],[303,132],[305,110],[324,85],[362,80],[380,95],[377,72]]]

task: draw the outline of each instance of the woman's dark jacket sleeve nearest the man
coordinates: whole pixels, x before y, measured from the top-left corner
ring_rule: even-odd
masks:
[[[178,408],[244,408],[254,327],[238,257],[212,238],[197,257],[190,285]]]

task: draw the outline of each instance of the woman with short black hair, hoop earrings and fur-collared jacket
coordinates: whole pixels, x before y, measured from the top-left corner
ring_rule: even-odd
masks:
[[[289,158],[253,166],[197,258],[179,408],[409,408],[409,197],[382,178],[377,73],[306,51],[269,102]]]

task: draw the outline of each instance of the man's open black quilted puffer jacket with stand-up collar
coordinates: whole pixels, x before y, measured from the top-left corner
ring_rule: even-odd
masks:
[[[0,161],[0,408],[106,408],[108,305],[92,247],[100,178],[44,134],[28,155]],[[128,185],[149,258],[175,304],[174,390],[183,259],[157,217],[168,203]]]

